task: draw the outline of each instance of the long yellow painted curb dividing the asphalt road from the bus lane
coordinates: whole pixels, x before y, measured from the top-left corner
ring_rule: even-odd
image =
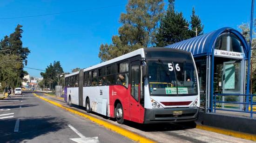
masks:
[[[33,93],[33,94],[34,94],[34,96],[39,97],[39,98],[41,98],[41,99],[43,99],[43,100],[45,100],[45,101],[47,101],[47,102],[49,102],[51,104],[54,104],[55,106],[61,107],[62,109],[65,109],[65,110],[68,110],[68,111],[70,111],[70,112],[72,112],[74,114],[80,115],[81,117],[85,117],[85,118],[93,121],[94,123],[97,123],[97,124],[99,124],[101,126],[104,126],[105,128],[107,128],[109,130],[113,130],[113,131],[117,132],[118,134],[126,136],[126,137],[128,137],[128,138],[130,138],[130,139],[132,139],[132,140],[134,140],[136,142],[140,142],[140,143],[155,143],[155,141],[153,141],[153,140],[150,140],[150,139],[148,139],[148,138],[146,138],[144,136],[140,136],[138,134],[135,134],[134,132],[131,132],[131,131],[126,130],[126,129],[123,129],[121,127],[118,127],[118,126],[116,126],[116,125],[114,125],[112,123],[108,123],[108,122],[103,121],[101,119],[98,119],[96,117],[92,117],[92,116],[89,116],[89,115],[84,114],[82,112],[79,112],[77,110],[73,110],[71,108],[67,108],[67,107],[65,107],[65,106],[63,106],[61,104],[58,104],[58,103],[54,102],[54,101],[48,100],[48,99],[46,99],[44,97],[40,97],[40,96],[36,95],[35,93]]]

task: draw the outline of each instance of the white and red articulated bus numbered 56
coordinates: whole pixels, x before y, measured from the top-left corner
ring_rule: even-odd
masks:
[[[199,84],[191,52],[141,48],[65,76],[64,98],[118,123],[189,122]]]

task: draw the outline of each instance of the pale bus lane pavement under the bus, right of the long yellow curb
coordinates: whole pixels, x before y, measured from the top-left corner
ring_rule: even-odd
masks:
[[[42,93],[37,93],[37,95],[69,107],[63,99],[46,96]],[[73,106],[69,108],[88,114],[84,107]],[[133,131],[138,135],[145,136],[159,143],[253,143],[252,141],[233,136],[196,129],[195,123],[139,124],[126,121],[125,124],[121,125],[111,118],[109,119],[104,116],[99,116],[95,113],[90,113],[89,115]]]

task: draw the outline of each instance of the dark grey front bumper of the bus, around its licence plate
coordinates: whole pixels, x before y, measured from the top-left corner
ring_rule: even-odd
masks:
[[[198,107],[145,109],[144,123],[173,123],[195,121]],[[174,111],[182,111],[181,115],[173,115]]]

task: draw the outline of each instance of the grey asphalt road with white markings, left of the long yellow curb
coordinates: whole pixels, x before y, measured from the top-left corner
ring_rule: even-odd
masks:
[[[31,93],[0,100],[0,143],[130,143],[130,139]]]

